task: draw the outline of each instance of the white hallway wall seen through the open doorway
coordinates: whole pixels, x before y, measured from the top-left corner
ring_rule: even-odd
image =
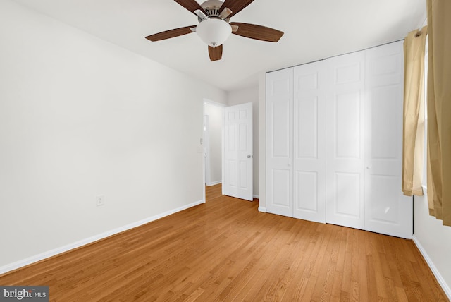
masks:
[[[209,116],[209,159],[210,179],[208,186],[222,182],[222,130],[223,130],[223,107],[206,103],[204,114]]]

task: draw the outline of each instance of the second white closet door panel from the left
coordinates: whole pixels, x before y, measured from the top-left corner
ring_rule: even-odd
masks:
[[[293,217],[326,222],[325,61],[294,68]]]

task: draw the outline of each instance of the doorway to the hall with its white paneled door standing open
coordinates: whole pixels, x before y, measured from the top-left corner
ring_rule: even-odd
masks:
[[[204,99],[204,200],[206,187],[252,201],[252,103],[226,107]]]

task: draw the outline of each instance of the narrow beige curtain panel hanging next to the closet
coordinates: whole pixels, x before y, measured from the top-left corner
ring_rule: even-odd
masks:
[[[423,195],[424,47],[427,27],[409,32],[404,40],[404,135],[402,192]]]

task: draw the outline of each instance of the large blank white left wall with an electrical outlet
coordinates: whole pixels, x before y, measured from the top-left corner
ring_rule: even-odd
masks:
[[[202,202],[203,99],[226,92],[9,0],[0,43],[0,272]]]

